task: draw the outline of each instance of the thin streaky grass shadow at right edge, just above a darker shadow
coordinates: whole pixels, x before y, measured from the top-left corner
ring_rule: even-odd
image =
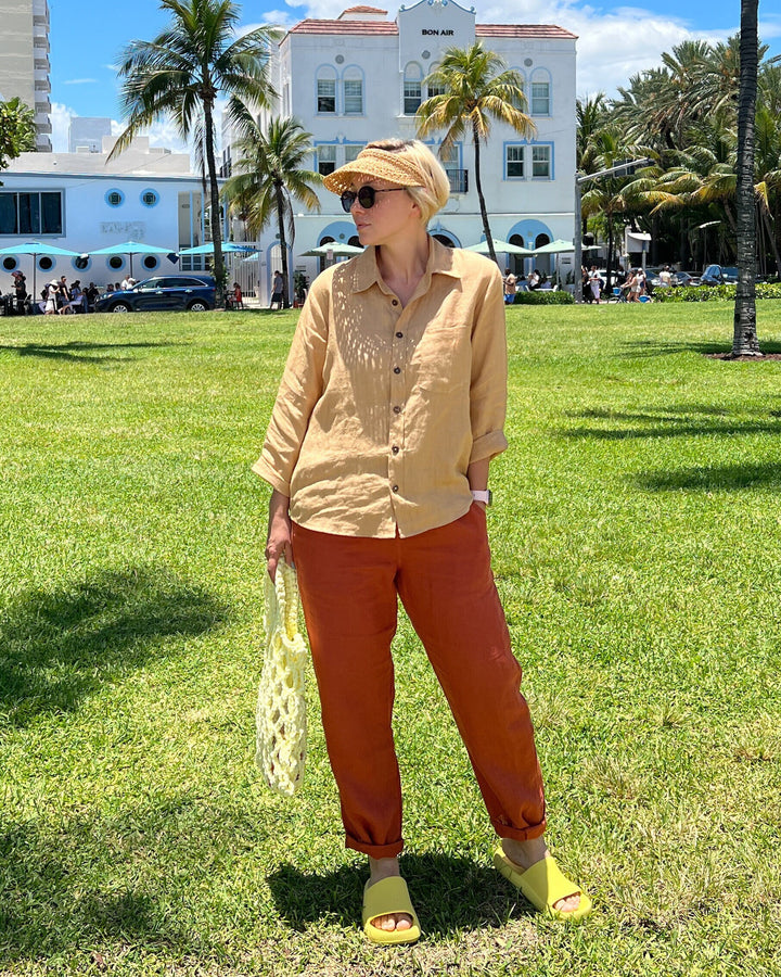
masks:
[[[578,427],[560,429],[562,437],[593,437],[600,441],[623,441],[639,437],[692,437],[699,435],[779,434],[781,411],[764,411],[750,418],[734,416],[729,409],[707,404],[670,404],[641,410],[588,409],[571,411],[567,417],[581,420],[606,420],[632,427]]]

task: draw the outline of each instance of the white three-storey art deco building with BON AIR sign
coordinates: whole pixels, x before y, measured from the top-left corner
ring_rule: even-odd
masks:
[[[415,112],[433,93],[426,89],[425,76],[446,48],[469,47],[475,40],[522,75],[527,112],[536,126],[535,135],[524,139],[496,124],[487,147],[482,148],[481,175],[491,232],[527,248],[556,238],[572,240],[576,37],[562,27],[479,24],[474,8],[466,10],[453,0],[421,0],[401,7],[395,20],[373,7],[353,7],[332,21],[305,20],[287,31],[272,60],[272,81],[280,94],[273,114],[295,116],[312,134],[312,168],[331,173],[372,139],[414,138]],[[223,135],[227,175],[230,134]],[[443,135],[430,140],[435,151]],[[474,244],[483,237],[473,161],[469,141],[445,160],[451,198],[430,227],[454,246]],[[291,254],[291,267],[309,277],[317,274],[317,259],[302,257],[303,252],[331,241],[357,243],[353,221],[338,200],[325,190],[319,195],[319,214],[296,216]],[[260,240],[257,283],[263,292],[280,266],[276,230],[269,226]],[[233,232],[242,237],[235,224]],[[537,265],[547,268],[547,258],[538,258]]]

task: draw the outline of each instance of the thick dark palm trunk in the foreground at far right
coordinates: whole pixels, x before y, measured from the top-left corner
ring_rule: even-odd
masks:
[[[738,289],[733,356],[761,356],[756,334],[756,211],[754,206],[754,117],[757,94],[757,8],[741,0],[740,99],[738,103]]]

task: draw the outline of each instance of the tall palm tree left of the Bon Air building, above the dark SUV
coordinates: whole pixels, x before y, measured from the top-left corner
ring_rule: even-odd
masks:
[[[112,156],[161,116],[170,116],[181,135],[195,137],[206,160],[214,240],[217,304],[225,304],[225,262],[215,162],[215,102],[228,96],[228,113],[238,100],[265,106],[273,91],[268,80],[271,43],[279,33],[257,27],[239,37],[240,8],[232,0],[161,0],[168,26],[152,41],[131,41],[121,52],[121,104],[126,129]]]

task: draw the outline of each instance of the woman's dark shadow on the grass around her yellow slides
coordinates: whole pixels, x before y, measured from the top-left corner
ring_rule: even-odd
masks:
[[[534,915],[535,910],[494,868],[444,854],[405,854],[401,871],[427,934],[485,929],[509,918]],[[343,866],[316,875],[283,865],[268,878],[277,911],[295,930],[319,919],[354,928],[360,909],[367,872]]]

